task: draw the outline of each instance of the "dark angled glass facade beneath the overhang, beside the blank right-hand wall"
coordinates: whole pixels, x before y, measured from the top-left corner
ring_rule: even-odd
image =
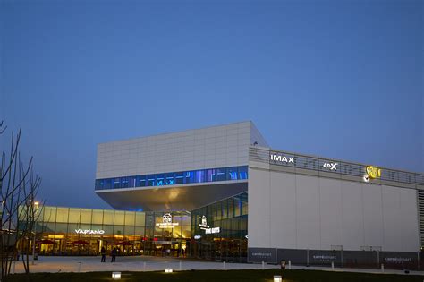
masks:
[[[248,193],[191,212],[191,257],[247,261]]]

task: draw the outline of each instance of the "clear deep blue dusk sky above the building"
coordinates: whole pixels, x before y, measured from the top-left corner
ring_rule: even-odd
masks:
[[[0,136],[49,205],[109,208],[97,144],[253,121],[272,148],[424,172],[424,2],[0,0]]]

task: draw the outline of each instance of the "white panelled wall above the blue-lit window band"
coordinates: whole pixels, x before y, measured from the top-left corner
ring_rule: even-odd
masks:
[[[242,122],[98,144],[96,178],[247,166],[251,132],[262,143]]]

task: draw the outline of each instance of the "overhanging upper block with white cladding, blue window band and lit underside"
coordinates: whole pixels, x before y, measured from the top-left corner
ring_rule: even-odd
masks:
[[[248,190],[250,122],[98,145],[95,192],[114,209],[192,210]]]

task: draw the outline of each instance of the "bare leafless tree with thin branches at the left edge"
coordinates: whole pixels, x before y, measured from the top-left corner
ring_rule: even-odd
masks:
[[[0,122],[0,135],[6,127]],[[24,269],[30,273],[29,247],[34,222],[37,217],[35,199],[41,179],[33,173],[32,157],[27,165],[21,162],[19,146],[21,129],[15,135],[12,132],[10,152],[2,150],[0,163],[0,201],[1,201],[1,236],[0,240],[0,279],[4,280],[11,272],[13,261],[18,259],[17,245],[22,242],[26,252]],[[35,234],[34,234],[35,236]],[[29,277],[27,277],[29,278]]]

